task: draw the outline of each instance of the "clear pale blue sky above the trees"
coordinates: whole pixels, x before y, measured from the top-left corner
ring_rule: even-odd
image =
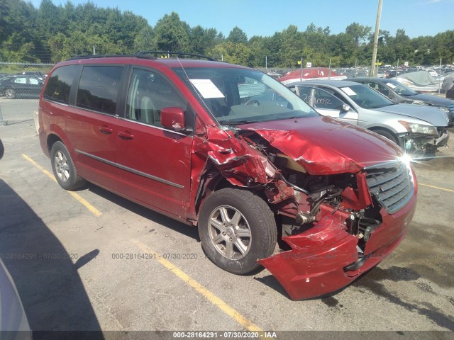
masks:
[[[66,0],[52,0],[65,5]],[[85,4],[87,0],[70,0]],[[38,8],[40,0],[31,0]],[[226,37],[238,26],[248,38],[270,36],[289,25],[304,31],[311,23],[329,26],[331,34],[345,32],[350,23],[375,30],[378,0],[92,0],[101,8],[132,11],[154,27],[165,14],[178,13],[189,26],[216,28]],[[454,30],[454,0],[383,0],[380,29],[395,35],[399,28],[410,38]]]

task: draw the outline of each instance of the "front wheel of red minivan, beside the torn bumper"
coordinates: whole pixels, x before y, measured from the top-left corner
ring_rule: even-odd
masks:
[[[275,250],[275,216],[262,198],[246,190],[224,188],[201,207],[199,236],[208,258],[225,271],[245,274]]]

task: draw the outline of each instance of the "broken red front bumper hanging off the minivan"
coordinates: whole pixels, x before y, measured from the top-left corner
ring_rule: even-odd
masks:
[[[358,261],[358,237],[345,232],[335,215],[325,215],[306,232],[282,239],[290,251],[260,259],[293,300],[317,297],[339,290],[376,266],[404,239],[416,209],[416,192],[405,208],[393,215],[382,209],[383,222],[367,241],[360,268],[345,267]]]

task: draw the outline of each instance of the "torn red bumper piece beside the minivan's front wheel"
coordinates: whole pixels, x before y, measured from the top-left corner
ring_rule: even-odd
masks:
[[[293,300],[331,293],[338,289],[343,268],[355,262],[358,238],[348,234],[344,225],[329,215],[314,227],[282,239],[291,251],[260,259]],[[340,269],[340,271],[339,271]]]

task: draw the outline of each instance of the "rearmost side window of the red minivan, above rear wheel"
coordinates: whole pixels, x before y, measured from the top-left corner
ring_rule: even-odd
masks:
[[[70,91],[77,65],[69,65],[55,69],[44,90],[44,98],[58,103],[70,103]]]

